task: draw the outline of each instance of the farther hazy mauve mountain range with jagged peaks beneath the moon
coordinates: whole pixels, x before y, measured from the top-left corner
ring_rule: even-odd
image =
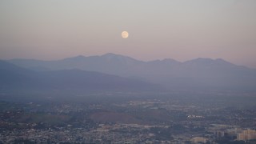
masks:
[[[123,55],[104,54],[89,57],[80,55],[57,61],[12,59],[6,62],[39,72],[78,69],[114,74],[160,84],[169,90],[256,90],[256,70],[237,66],[223,59],[197,58],[186,62],[163,59],[143,62]]]

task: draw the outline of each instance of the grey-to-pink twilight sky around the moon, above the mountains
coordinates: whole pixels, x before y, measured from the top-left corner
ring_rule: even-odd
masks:
[[[223,58],[256,68],[256,1],[0,1],[0,59],[109,52],[145,61]]]

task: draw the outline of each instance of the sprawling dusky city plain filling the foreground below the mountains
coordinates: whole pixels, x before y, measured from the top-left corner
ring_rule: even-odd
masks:
[[[0,143],[256,142],[255,94],[174,91],[34,100],[1,94],[1,99]]]

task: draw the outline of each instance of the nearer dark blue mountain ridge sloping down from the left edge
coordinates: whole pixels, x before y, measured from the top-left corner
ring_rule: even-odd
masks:
[[[85,70],[36,72],[0,60],[0,94],[130,92],[162,90],[161,86],[110,74]]]

